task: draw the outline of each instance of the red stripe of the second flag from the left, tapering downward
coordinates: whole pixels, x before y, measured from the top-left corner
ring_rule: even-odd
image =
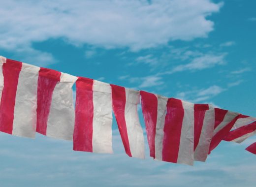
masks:
[[[41,67],[37,83],[36,132],[46,135],[52,95],[61,72]]]

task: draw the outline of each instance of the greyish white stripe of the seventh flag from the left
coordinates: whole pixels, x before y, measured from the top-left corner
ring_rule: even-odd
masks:
[[[205,161],[208,156],[209,147],[213,137],[215,113],[214,107],[209,105],[209,110],[205,111],[203,126],[199,142],[194,151],[194,160]]]

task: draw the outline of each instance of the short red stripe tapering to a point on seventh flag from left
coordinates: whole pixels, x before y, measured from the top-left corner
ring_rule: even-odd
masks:
[[[209,110],[208,104],[194,104],[194,150],[199,143],[206,110]]]

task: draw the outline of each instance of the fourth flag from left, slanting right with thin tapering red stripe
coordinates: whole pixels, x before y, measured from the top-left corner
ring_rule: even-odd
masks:
[[[137,105],[139,92],[111,85],[113,111],[128,156],[144,158],[143,130],[139,123]]]

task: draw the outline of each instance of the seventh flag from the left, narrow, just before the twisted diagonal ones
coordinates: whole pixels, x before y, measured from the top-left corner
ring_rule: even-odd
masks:
[[[205,161],[214,132],[214,107],[194,104],[194,160]]]

